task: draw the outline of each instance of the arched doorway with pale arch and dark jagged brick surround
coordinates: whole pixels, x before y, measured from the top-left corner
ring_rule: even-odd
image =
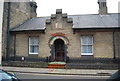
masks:
[[[69,45],[69,40],[63,35],[56,35],[50,38],[48,42],[50,46],[50,58],[49,61],[67,61],[67,49]]]

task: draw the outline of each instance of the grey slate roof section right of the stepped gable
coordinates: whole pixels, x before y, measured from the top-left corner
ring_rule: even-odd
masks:
[[[116,28],[118,14],[107,15],[77,15],[73,18],[73,28]]]

